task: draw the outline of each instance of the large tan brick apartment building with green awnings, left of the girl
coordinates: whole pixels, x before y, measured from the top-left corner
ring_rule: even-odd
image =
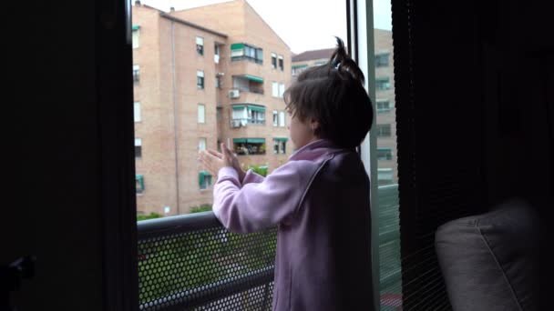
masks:
[[[198,152],[227,144],[271,172],[292,154],[282,93],[292,53],[244,0],[132,10],[137,206],[166,216],[210,204]]]

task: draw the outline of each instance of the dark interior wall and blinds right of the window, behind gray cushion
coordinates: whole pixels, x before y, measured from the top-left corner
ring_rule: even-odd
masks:
[[[536,0],[392,3],[404,304],[442,308],[437,226],[511,196],[554,220],[551,10]]]

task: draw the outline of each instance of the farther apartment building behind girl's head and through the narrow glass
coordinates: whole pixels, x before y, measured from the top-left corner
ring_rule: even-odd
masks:
[[[314,65],[324,65],[333,48],[306,51],[292,57],[292,79]],[[398,182],[396,166],[395,71],[393,66],[393,36],[390,30],[374,29],[375,51],[375,111],[372,127],[377,135],[378,183]]]

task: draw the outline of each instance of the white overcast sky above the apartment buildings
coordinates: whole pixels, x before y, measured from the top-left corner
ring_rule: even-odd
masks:
[[[334,35],[346,42],[344,0],[247,0],[281,36],[293,53],[334,47]],[[134,1],[133,1],[134,2]],[[163,11],[225,2],[225,0],[141,0]],[[391,29],[390,0],[374,0],[374,27]]]

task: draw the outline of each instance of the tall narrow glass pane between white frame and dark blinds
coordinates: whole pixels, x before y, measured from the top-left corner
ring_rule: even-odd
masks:
[[[377,217],[381,310],[402,309],[398,175],[396,161],[395,68],[390,0],[374,0],[374,65],[377,137]]]

